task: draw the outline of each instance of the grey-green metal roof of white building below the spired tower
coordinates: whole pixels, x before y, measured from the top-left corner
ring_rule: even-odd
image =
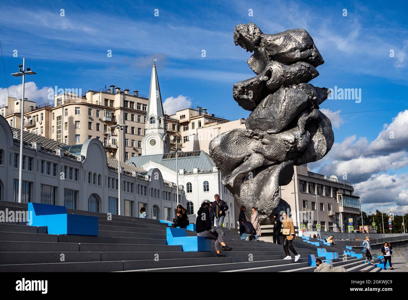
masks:
[[[175,153],[156,154],[135,156],[126,161],[126,163],[134,163],[138,167],[142,167],[147,162],[157,162],[173,171],[176,171]],[[198,168],[200,172],[211,172],[215,163],[204,151],[189,151],[179,152],[177,156],[177,163],[179,169],[184,169],[186,173],[192,173],[193,168]]]

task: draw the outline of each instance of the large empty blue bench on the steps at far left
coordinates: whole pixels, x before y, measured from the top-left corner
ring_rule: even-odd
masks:
[[[47,226],[49,234],[98,236],[98,217],[67,213],[59,205],[29,202],[31,226]]]

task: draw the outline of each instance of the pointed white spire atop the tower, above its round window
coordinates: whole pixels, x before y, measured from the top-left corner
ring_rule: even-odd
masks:
[[[162,126],[164,118],[164,110],[162,104],[162,96],[160,95],[159,80],[157,79],[156,63],[155,58],[153,58],[152,76],[150,80],[150,91],[149,91],[149,104],[147,106],[147,123],[150,122],[151,118],[155,118],[156,126],[159,125],[158,122],[161,120]]]

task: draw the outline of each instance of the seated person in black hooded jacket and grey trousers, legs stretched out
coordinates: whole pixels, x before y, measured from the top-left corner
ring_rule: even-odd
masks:
[[[197,236],[202,236],[209,240],[215,240],[215,251],[217,251],[215,257],[225,257],[224,254],[220,253],[220,244],[222,246],[222,251],[231,251],[232,248],[224,243],[220,231],[211,231],[209,207],[210,204],[207,202],[201,204],[201,207],[197,212],[197,219],[195,220],[195,230],[197,231]]]

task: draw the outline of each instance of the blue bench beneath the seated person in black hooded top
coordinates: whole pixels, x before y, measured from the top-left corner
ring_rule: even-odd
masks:
[[[211,240],[202,236],[187,236],[182,228],[167,227],[166,239],[168,245],[181,245],[183,251],[211,251]]]

